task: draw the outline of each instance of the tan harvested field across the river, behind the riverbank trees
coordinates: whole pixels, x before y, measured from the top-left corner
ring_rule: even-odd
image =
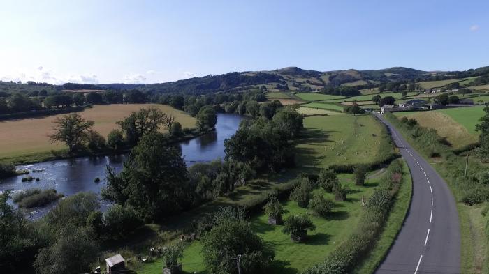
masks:
[[[107,136],[110,130],[119,128],[116,121],[124,119],[133,111],[141,107],[158,107],[164,112],[170,112],[176,117],[176,121],[182,123],[183,127],[194,127],[195,119],[184,112],[180,112],[173,107],[166,105],[95,105],[90,109],[85,109],[83,118],[95,122],[94,130]],[[64,114],[53,116],[42,116],[29,119],[16,119],[0,121],[0,161],[12,161],[27,155],[52,154],[50,151],[66,149],[64,144],[50,144],[48,135],[52,133],[52,121]]]

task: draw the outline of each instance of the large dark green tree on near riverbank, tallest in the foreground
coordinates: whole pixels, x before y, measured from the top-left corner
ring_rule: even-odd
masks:
[[[108,172],[103,197],[133,206],[142,218],[157,220],[180,211],[186,197],[188,172],[180,151],[164,135],[140,139],[119,175]]]

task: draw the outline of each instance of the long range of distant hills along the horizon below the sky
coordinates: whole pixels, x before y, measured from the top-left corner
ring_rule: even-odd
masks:
[[[290,91],[318,91],[325,86],[356,86],[372,88],[387,82],[425,82],[446,79],[461,79],[489,75],[489,66],[465,71],[428,72],[414,68],[393,67],[381,70],[305,70],[298,67],[286,67],[277,70],[245,71],[222,75],[207,75],[175,82],[159,84],[73,84],[61,86],[29,83],[18,84],[0,82],[0,91],[32,91],[33,89],[139,89],[147,93],[187,93],[205,94],[218,91],[240,91],[244,89],[271,89]],[[22,87],[23,86],[23,87]]]

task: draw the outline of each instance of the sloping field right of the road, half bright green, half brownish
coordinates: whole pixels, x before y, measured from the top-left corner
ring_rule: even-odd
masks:
[[[430,112],[395,112],[395,116],[416,119],[426,128],[434,128],[446,138],[454,149],[460,149],[478,141],[475,125],[483,115],[482,107],[459,107]]]

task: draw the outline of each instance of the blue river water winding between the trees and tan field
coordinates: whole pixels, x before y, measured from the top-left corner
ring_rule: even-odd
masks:
[[[215,132],[209,132],[200,137],[178,144],[187,166],[196,162],[209,162],[224,157],[224,140],[231,137],[240,125],[242,116],[238,114],[217,114]],[[29,169],[34,178],[39,181],[22,182],[25,175],[14,176],[0,180],[0,191],[12,189],[13,192],[29,188],[54,188],[65,196],[78,192],[100,193],[105,186],[105,170],[110,166],[120,172],[127,153],[100,157],[80,157],[73,159],[39,162],[33,165],[20,165],[17,169]],[[95,183],[95,178],[100,178]],[[36,219],[44,215],[55,204],[44,208],[34,208],[27,212],[30,218]],[[108,207],[108,202],[101,201],[102,210]]]

